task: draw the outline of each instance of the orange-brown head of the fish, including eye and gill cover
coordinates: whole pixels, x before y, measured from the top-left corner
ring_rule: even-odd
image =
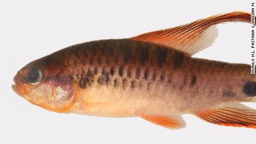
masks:
[[[73,101],[73,86],[56,59],[41,58],[28,63],[14,76],[13,91],[34,105],[67,112]]]

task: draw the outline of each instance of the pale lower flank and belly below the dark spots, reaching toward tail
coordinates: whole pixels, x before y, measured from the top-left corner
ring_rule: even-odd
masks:
[[[166,82],[151,83],[142,88],[115,88],[92,86],[80,90],[78,100],[73,105],[73,113],[105,117],[136,117],[140,115],[174,115],[193,113],[222,102],[240,101],[240,98],[223,97],[218,89],[210,85],[190,85],[181,88],[183,83],[176,77],[176,85]]]

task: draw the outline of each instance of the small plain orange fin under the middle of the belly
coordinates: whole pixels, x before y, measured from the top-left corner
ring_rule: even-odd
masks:
[[[180,129],[186,126],[185,121],[181,116],[148,116],[140,115],[141,118],[144,118],[147,121],[150,121],[156,125],[160,125],[170,129]]]

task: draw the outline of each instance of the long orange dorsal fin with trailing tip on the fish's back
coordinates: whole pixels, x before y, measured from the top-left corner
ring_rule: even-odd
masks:
[[[234,21],[249,23],[250,13],[232,12],[218,14],[178,27],[144,33],[130,39],[163,44],[193,56],[193,54],[214,43],[218,36],[218,29],[215,24]]]

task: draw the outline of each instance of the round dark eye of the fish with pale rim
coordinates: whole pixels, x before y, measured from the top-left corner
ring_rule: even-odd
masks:
[[[27,82],[32,85],[37,85],[43,80],[43,72],[38,68],[31,68],[26,76]]]

